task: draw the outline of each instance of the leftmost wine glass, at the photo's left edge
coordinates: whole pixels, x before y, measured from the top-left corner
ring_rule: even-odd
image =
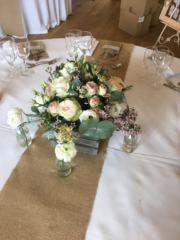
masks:
[[[14,66],[16,53],[13,38],[6,37],[1,39],[0,47],[2,49],[4,58],[6,59],[7,63],[11,66],[9,77],[10,78],[19,77],[21,74],[17,71],[17,69]]]

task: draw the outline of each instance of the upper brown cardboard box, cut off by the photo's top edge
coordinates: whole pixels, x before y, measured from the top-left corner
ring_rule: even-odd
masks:
[[[145,16],[157,10],[159,0],[121,0],[121,9]]]

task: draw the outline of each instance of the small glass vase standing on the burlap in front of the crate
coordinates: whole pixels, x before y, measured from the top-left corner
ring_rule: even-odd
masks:
[[[71,173],[71,161],[64,162],[64,160],[59,160],[56,158],[56,169],[59,177],[65,178]]]

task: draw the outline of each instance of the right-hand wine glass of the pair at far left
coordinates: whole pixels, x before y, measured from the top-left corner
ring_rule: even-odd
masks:
[[[30,76],[34,74],[33,69],[28,69],[26,66],[26,59],[30,55],[30,43],[26,37],[14,37],[16,43],[16,53],[19,58],[24,61],[25,70],[21,71],[23,76]]]

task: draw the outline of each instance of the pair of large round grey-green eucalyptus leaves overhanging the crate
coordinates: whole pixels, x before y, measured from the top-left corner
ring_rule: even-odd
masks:
[[[98,122],[95,119],[83,121],[79,126],[79,132],[86,136],[97,137],[100,139],[110,138],[116,126],[110,121]]]

